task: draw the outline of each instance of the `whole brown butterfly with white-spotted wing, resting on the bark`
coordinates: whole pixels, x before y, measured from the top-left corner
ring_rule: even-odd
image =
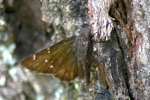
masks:
[[[74,36],[25,58],[21,64],[32,71],[52,74],[62,81],[84,78],[87,85],[94,65],[98,68],[100,83],[106,88],[111,87],[105,67],[93,59],[92,36],[87,40]]]

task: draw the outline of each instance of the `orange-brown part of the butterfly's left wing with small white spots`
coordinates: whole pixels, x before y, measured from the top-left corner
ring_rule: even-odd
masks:
[[[53,74],[61,80],[74,79],[81,70],[75,56],[74,38],[63,40],[27,57],[22,61],[22,65],[33,71]]]

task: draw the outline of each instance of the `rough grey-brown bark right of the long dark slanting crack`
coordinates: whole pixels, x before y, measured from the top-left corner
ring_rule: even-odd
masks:
[[[120,68],[118,67],[121,71],[117,73],[122,72],[121,76],[123,76],[126,87],[121,89],[121,91],[127,90],[128,94],[126,95],[132,99],[148,100],[149,18],[147,16],[149,16],[149,9],[147,8],[149,7],[149,1],[122,0],[119,3],[118,0],[116,2],[118,2],[117,8],[115,8],[116,11],[113,11],[113,7],[110,10],[110,15],[119,22],[115,28],[118,39],[117,43],[123,59],[119,61],[122,62]]]

